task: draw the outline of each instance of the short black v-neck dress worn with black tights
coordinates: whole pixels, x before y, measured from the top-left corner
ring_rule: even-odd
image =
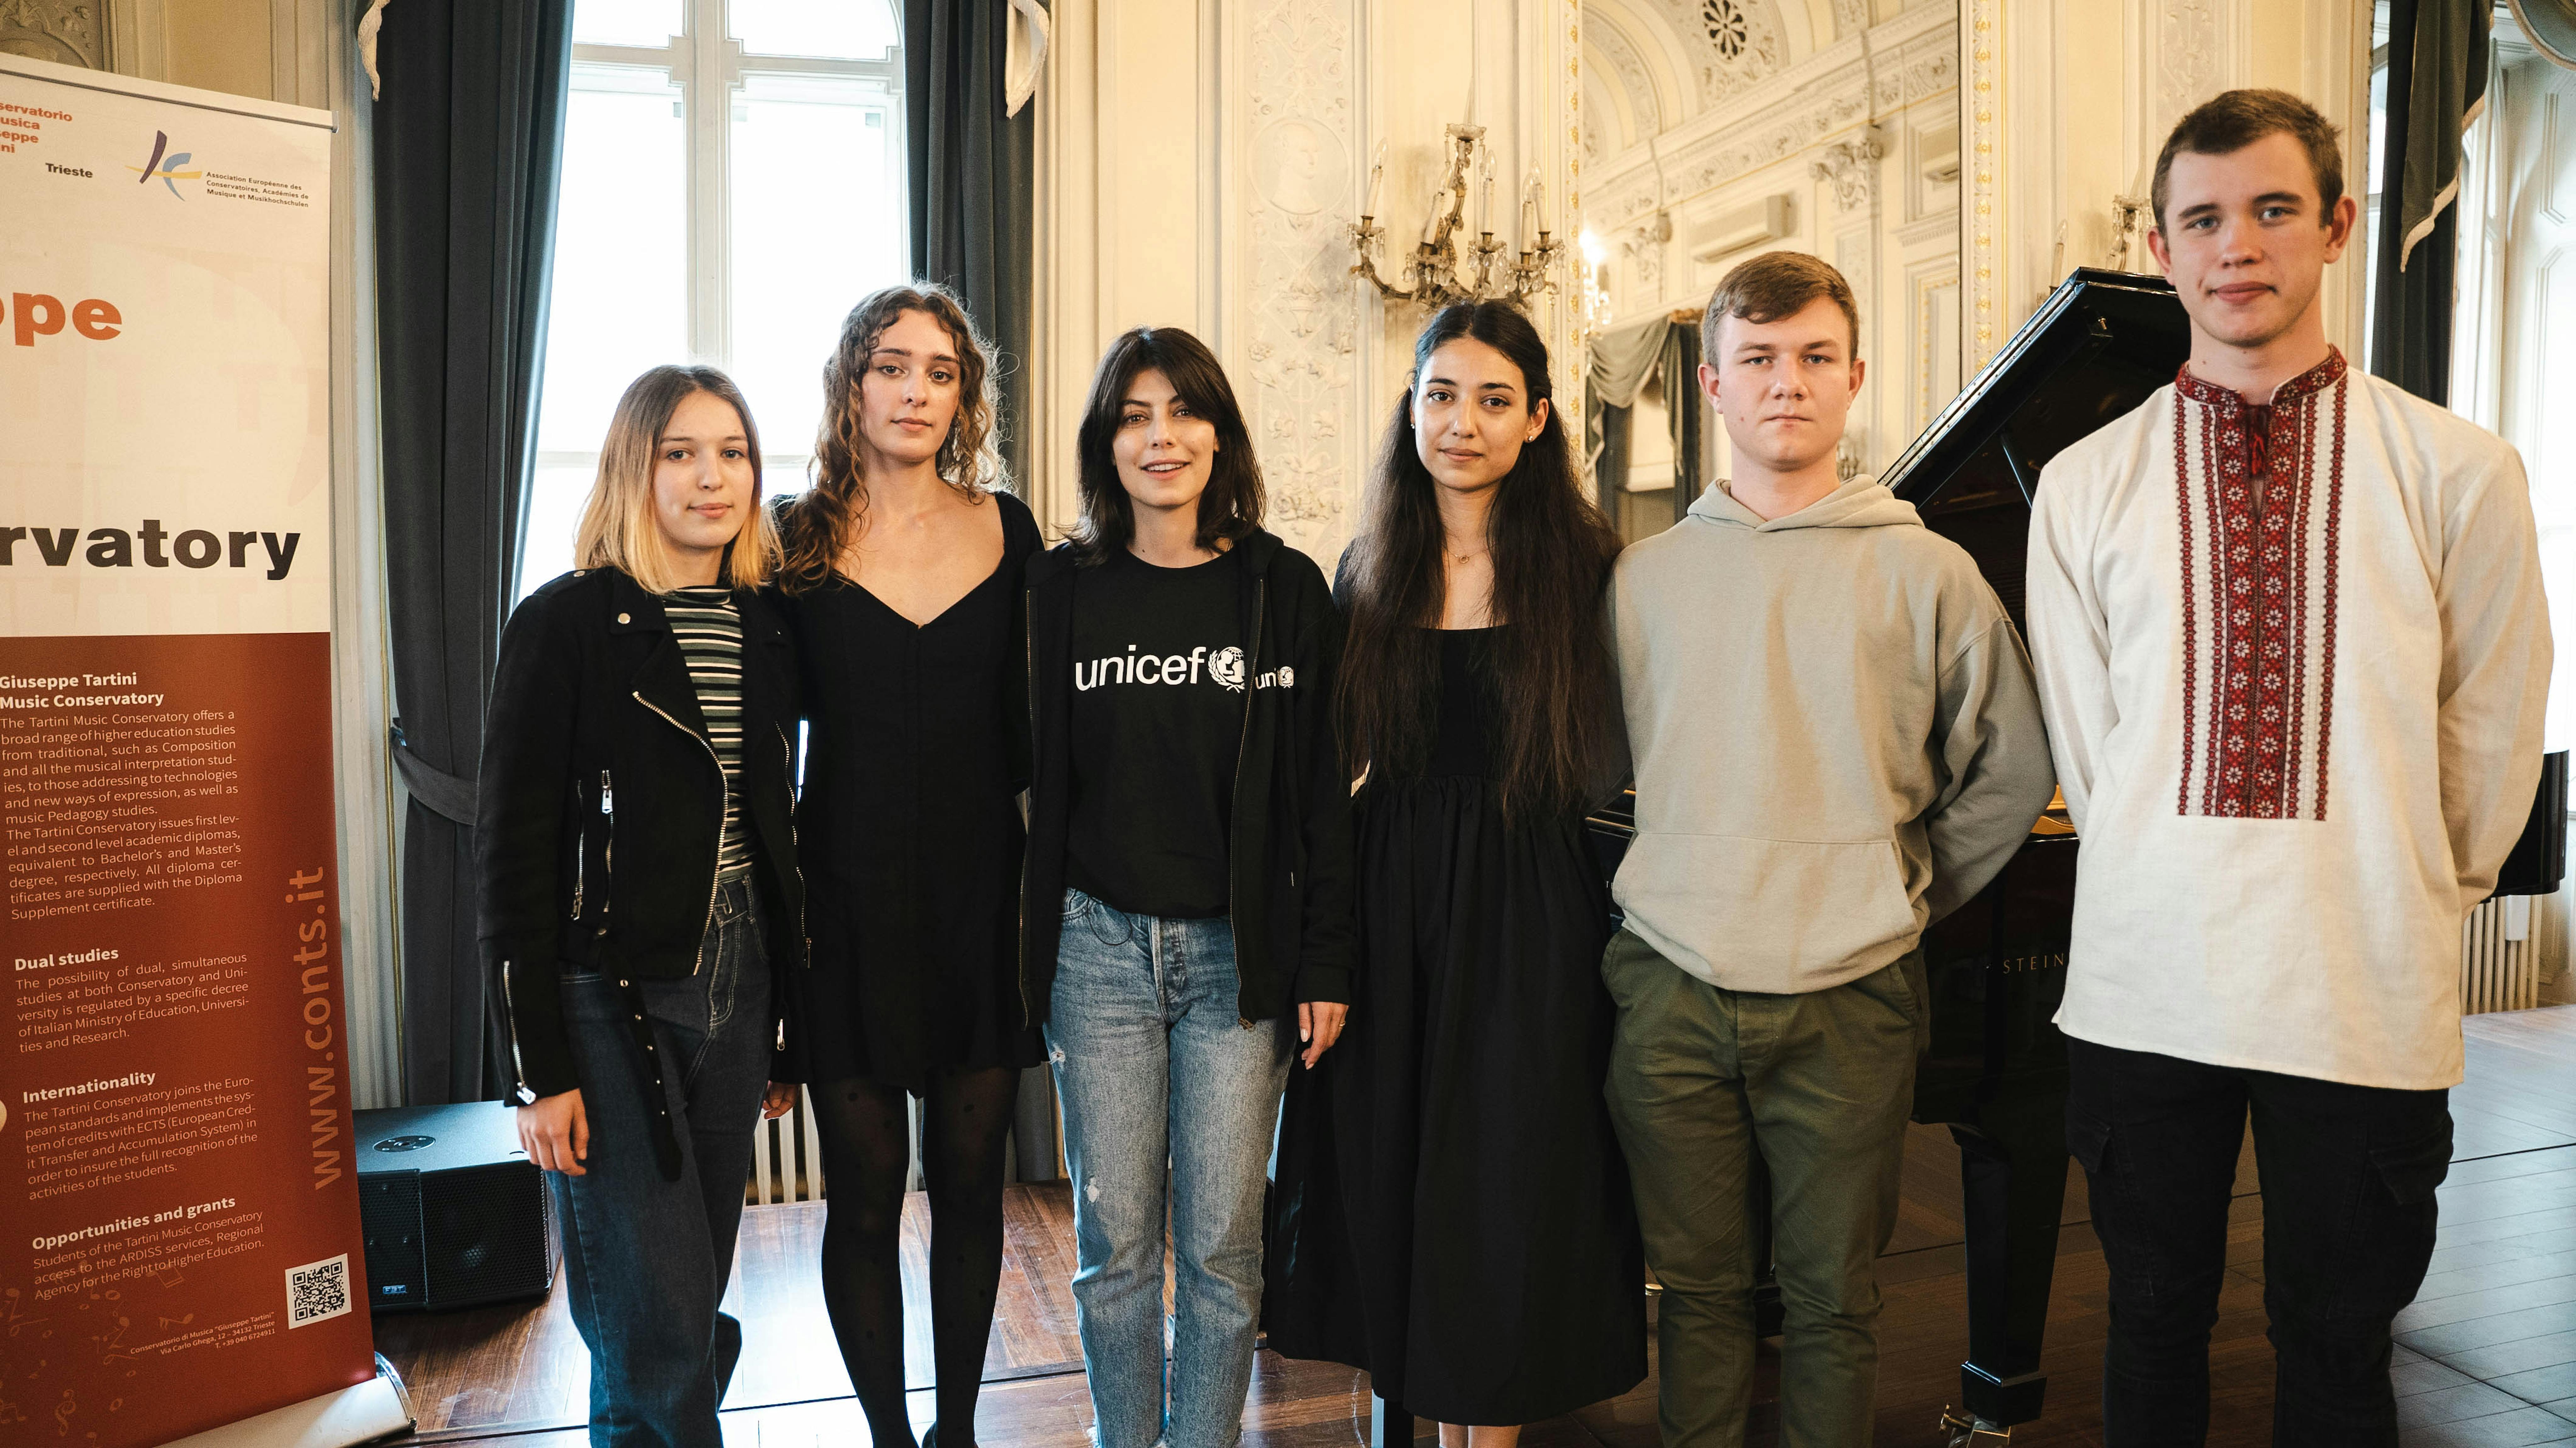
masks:
[[[806,1080],[920,1092],[940,1067],[1046,1059],[1020,1002],[1025,636],[1038,520],[999,492],[1002,562],[930,624],[866,587],[791,600],[804,667],[796,804],[814,969]]]

